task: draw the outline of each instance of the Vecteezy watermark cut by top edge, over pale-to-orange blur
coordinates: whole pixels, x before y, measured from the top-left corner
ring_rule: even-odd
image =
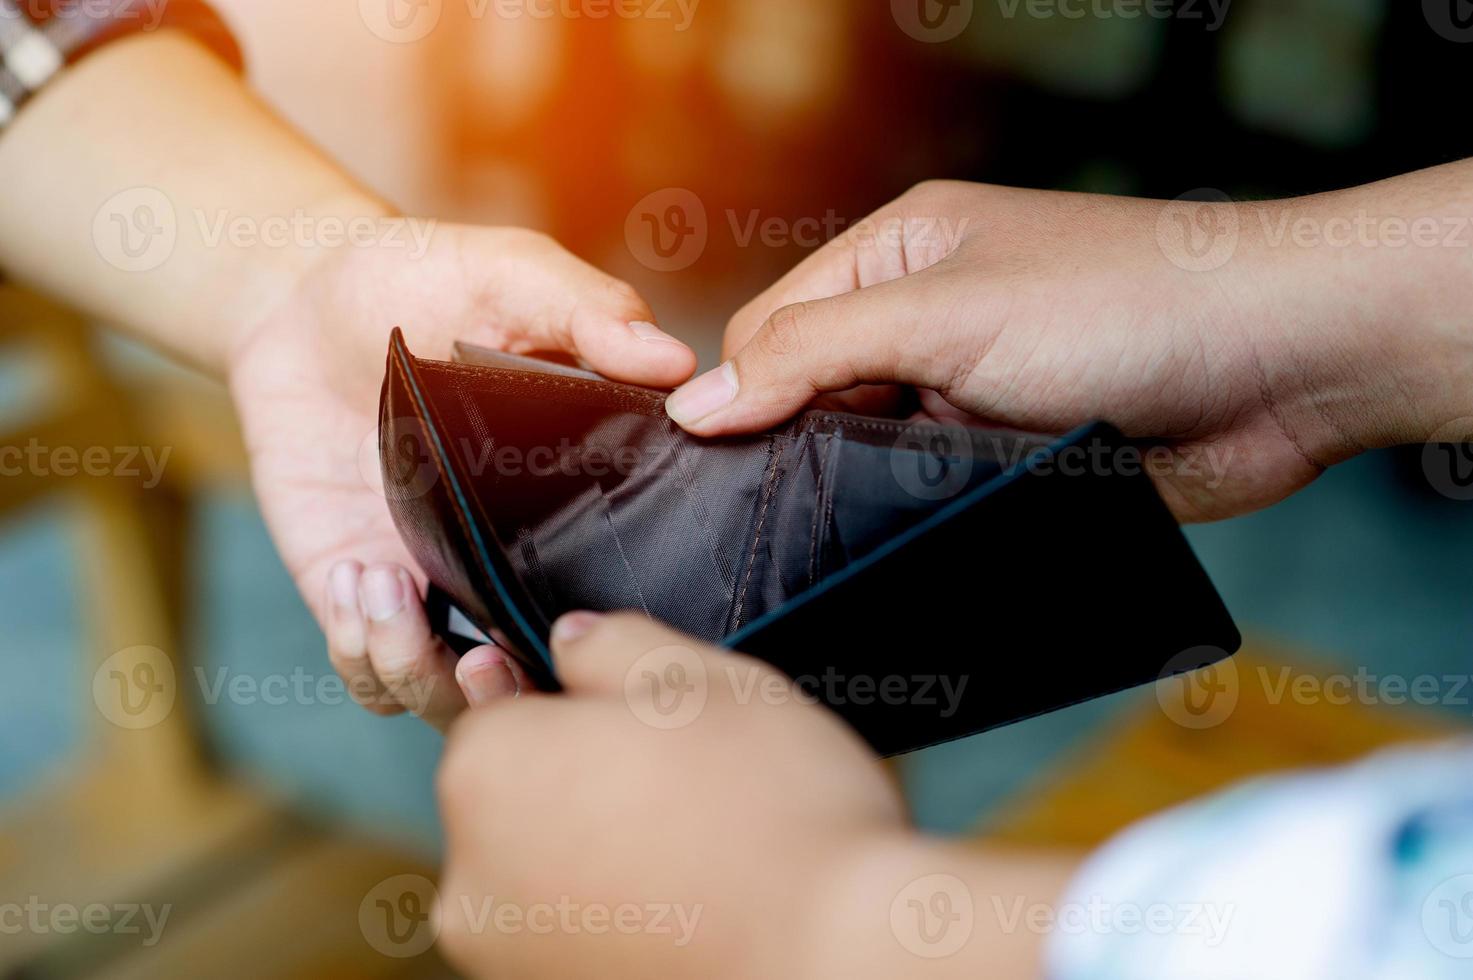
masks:
[[[463,0],[471,21],[655,21],[688,31],[701,0]],[[358,0],[358,15],[380,40],[423,41],[445,16],[445,0]]]

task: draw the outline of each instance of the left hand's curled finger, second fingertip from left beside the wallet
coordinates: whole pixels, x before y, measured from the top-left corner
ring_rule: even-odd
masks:
[[[455,653],[432,631],[409,573],[371,564],[358,582],[368,659],[387,697],[445,731],[465,710],[455,681]]]

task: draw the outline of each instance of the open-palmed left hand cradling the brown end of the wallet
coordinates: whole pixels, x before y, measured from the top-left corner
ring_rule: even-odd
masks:
[[[653,326],[626,284],[546,237],[516,228],[436,227],[417,256],[349,248],[317,262],[234,351],[230,385],[261,510],[355,699],[411,709],[443,729],[465,707],[514,693],[516,668],[485,651],[455,679],[430,634],[424,575],[389,517],[377,419],[389,332],[421,355],[455,340],[561,351],[622,380],[670,386],[695,355]]]

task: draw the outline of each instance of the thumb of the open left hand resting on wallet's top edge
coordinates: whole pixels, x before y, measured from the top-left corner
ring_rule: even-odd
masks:
[[[510,280],[511,295],[505,281],[493,295],[511,307],[502,312],[520,324],[523,346],[573,354],[601,374],[651,388],[673,388],[695,371],[695,352],[655,324],[632,286],[549,239],[530,239]]]

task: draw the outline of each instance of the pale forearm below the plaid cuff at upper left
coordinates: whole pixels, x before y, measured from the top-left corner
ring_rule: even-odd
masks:
[[[43,90],[0,136],[0,186],[6,274],[215,373],[342,237],[283,228],[387,211],[174,31]]]

